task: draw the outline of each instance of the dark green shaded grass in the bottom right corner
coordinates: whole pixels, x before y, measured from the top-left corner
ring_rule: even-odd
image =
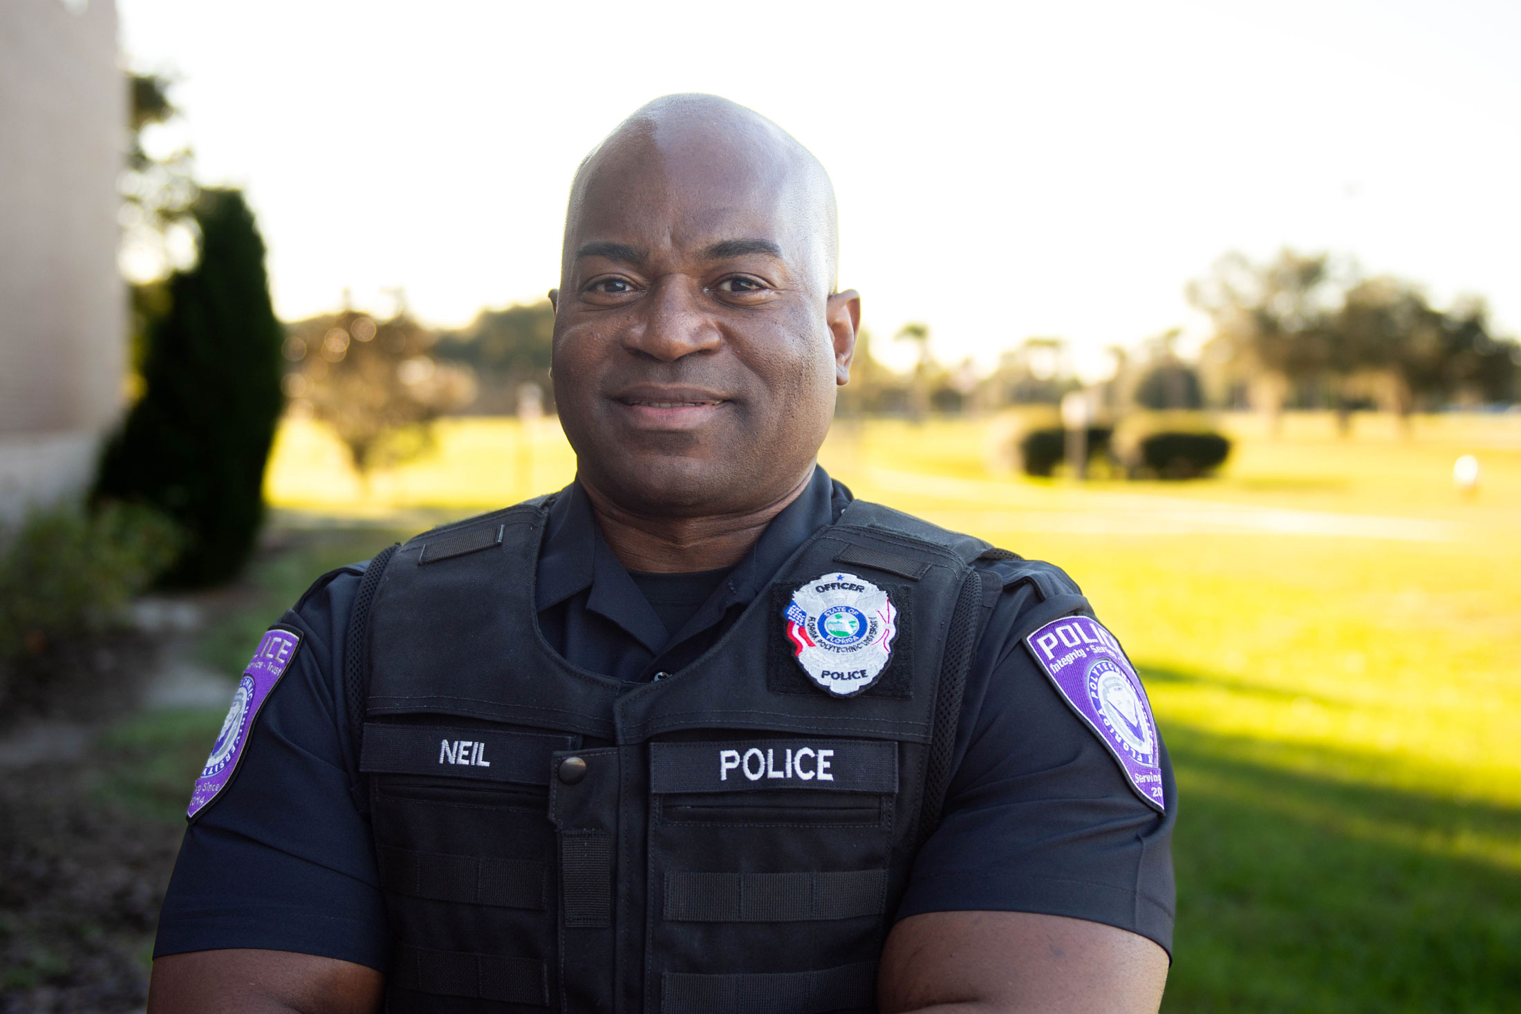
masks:
[[[1521,1009],[1521,810],[1164,733],[1180,800],[1164,1011]]]

